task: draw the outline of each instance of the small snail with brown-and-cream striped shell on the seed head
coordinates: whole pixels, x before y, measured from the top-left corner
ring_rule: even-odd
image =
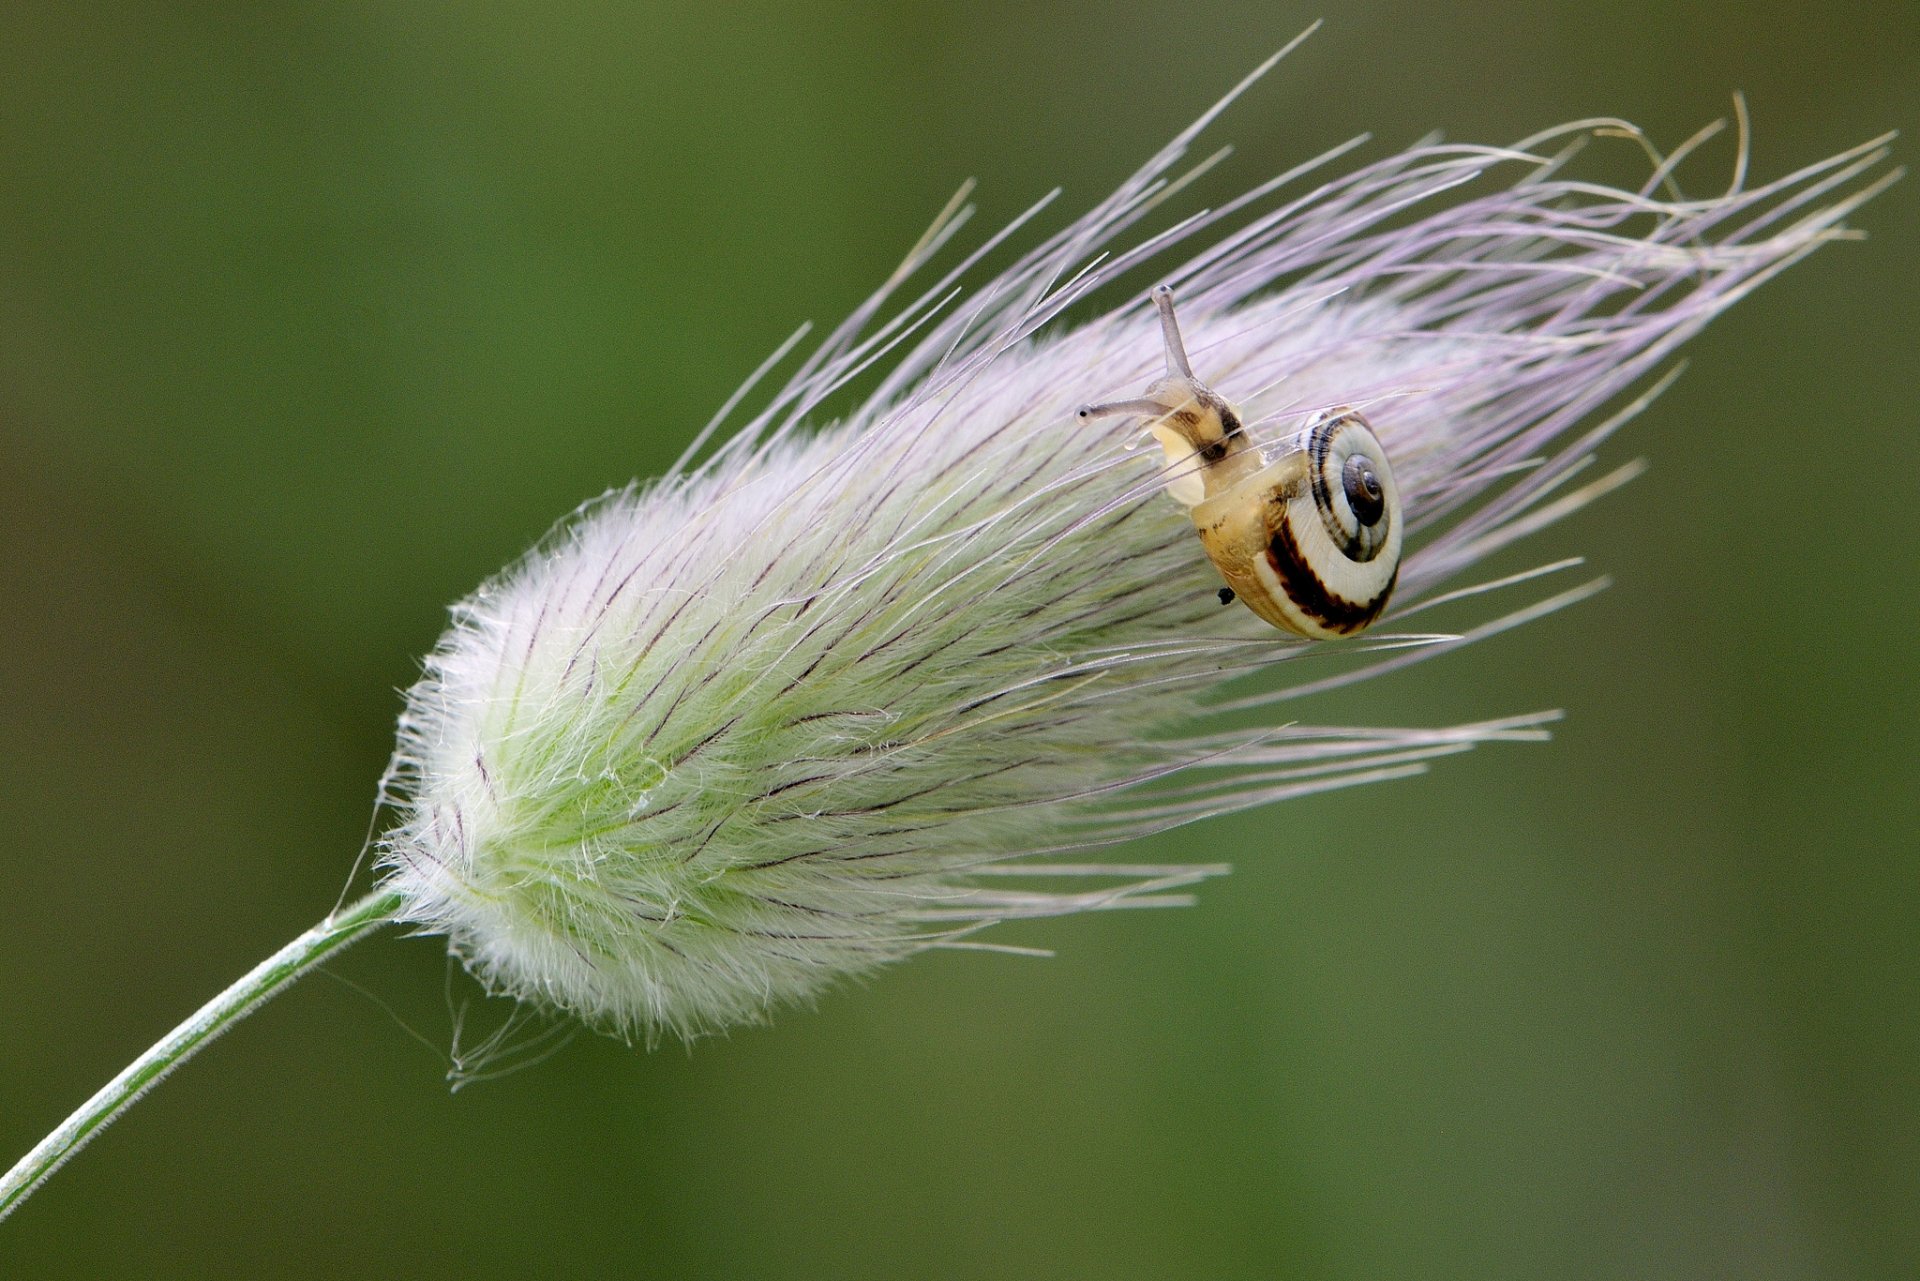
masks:
[[[1173,472],[1200,545],[1238,597],[1277,628],[1331,640],[1365,630],[1400,576],[1400,490],[1386,449],[1354,409],[1315,415],[1292,446],[1261,449],[1225,399],[1194,378],[1173,319],[1173,290],[1154,290],[1167,375],[1139,399],[1083,405],[1079,417],[1140,415]]]

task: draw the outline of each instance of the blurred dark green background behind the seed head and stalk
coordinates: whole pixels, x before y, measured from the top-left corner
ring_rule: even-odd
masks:
[[[1920,119],[1908,0],[1450,8],[1329,13],[1212,194],[1361,129],[1676,144],[1736,88],[1763,179]],[[326,910],[445,603],[664,467],[962,179],[981,225],[1079,209],[1313,15],[8,6],[0,1158]],[[1914,209],[1693,344],[1609,449],[1651,474],[1526,549],[1613,592],[1304,709],[1565,707],[1553,745],[1129,851],[1236,872],[1004,935],[1054,960],[457,1097],[317,976],[0,1227],[0,1273],[1912,1275]],[[445,1049],[438,943],[336,972]]]

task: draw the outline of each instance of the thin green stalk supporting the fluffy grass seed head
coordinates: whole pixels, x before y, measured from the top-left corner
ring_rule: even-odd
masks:
[[[46,1175],[60,1170],[61,1162],[79,1152],[108,1122],[127,1110],[163,1076],[192,1058],[207,1041],[263,1006],[313,966],[392,922],[399,908],[401,897],[397,893],[374,891],[330,914],[194,1010],[186,1022],[156,1041],[100,1093],[83,1102],[54,1133],[40,1139],[31,1152],[19,1158],[17,1166],[6,1172],[6,1177],[0,1177],[0,1220],[27,1200],[46,1181]]]

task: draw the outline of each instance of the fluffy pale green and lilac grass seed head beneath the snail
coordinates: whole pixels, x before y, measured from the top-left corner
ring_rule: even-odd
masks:
[[[1741,129],[1732,184],[1686,198],[1678,156],[1636,190],[1576,177],[1597,134],[1644,146],[1619,121],[1325,177],[1356,140],[1129,242],[1200,125],[983,286],[958,282],[1012,227],[881,321],[950,211],[705,461],[720,419],[455,607],[401,720],[382,862],[405,920],[495,991],[691,1035],[991,945],[973,935],[993,922],[1181,903],[1219,870],[1092,851],[1540,737],[1544,716],[1321,728],[1283,705],[1590,592],[1463,632],[1415,618],[1532,580],[1457,586],[1624,478],[1580,472],[1657,386],[1634,390],[1843,234],[1885,154],[1753,186]],[[1144,288],[1056,325],[1148,259],[1194,371],[1258,440],[1354,407],[1392,457],[1407,553],[1367,636],[1223,607],[1165,495],[1177,463],[1133,449],[1139,421],[1075,417],[1164,369]],[[803,424],[858,376],[877,376],[858,407]]]

